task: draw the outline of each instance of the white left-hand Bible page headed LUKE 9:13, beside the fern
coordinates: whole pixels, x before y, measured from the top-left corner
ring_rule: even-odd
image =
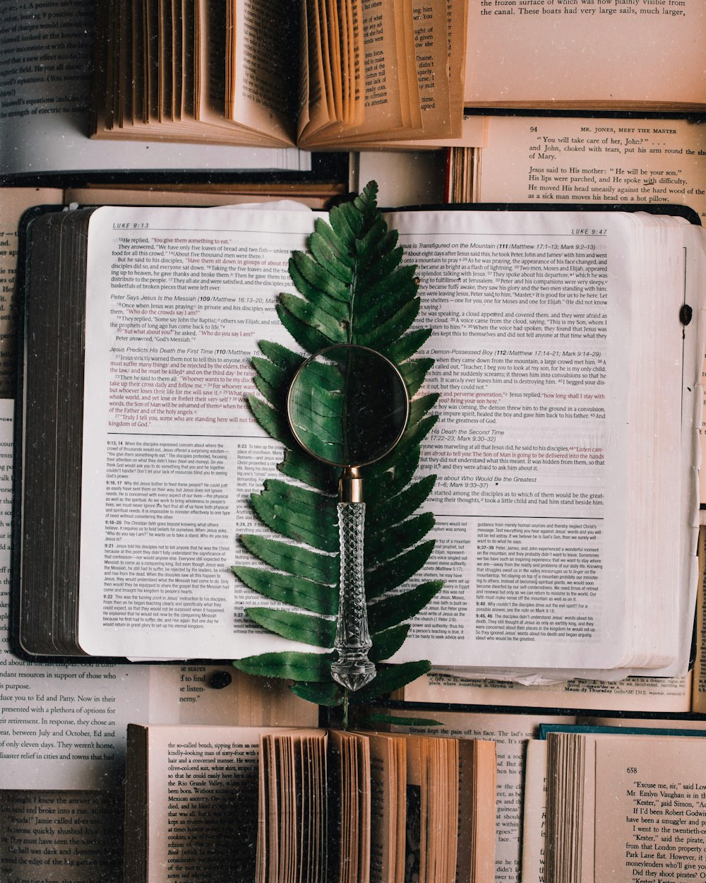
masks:
[[[101,208],[91,219],[79,641],[89,653],[257,653],[229,573],[282,446],[255,423],[261,338],[314,215]],[[286,645],[271,638],[269,649]]]

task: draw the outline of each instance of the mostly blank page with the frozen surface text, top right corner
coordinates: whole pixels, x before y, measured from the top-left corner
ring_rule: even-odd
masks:
[[[466,105],[706,102],[702,0],[469,0]]]

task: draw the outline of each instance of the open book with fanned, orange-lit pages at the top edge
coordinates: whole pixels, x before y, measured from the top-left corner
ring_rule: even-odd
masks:
[[[461,135],[465,0],[102,4],[93,132],[364,148]]]

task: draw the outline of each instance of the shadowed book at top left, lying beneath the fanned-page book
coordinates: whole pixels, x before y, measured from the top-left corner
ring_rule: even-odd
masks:
[[[207,173],[233,183],[267,180],[301,183],[331,177],[334,163],[295,148],[229,144],[89,139],[89,102],[94,18],[99,6],[83,0],[46,0],[41,12],[25,0],[5,0],[0,29],[0,179],[34,185],[51,175],[51,185],[114,179],[116,170],[147,174],[152,182],[169,175]],[[193,5],[193,4],[184,4]],[[331,157],[334,159],[334,157]],[[124,184],[124,177],[121,177]]]

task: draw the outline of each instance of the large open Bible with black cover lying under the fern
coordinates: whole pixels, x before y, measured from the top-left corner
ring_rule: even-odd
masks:
[[[15,577],[37,654],[296,648],[229,567],[282,458],[244,405],[316,215],[98,208],[30,225]],[[421,470],[445,588],[397,660],[678,675],[694,626],[702,230],[670,215],[399,211],[433,328]],[[687,308],[689,307],[689,308]],[[689,316],[691,319],[689,321]],[[687,322],[687,324],[685,324]],[[47,439],[53,443],[48,445]]]

